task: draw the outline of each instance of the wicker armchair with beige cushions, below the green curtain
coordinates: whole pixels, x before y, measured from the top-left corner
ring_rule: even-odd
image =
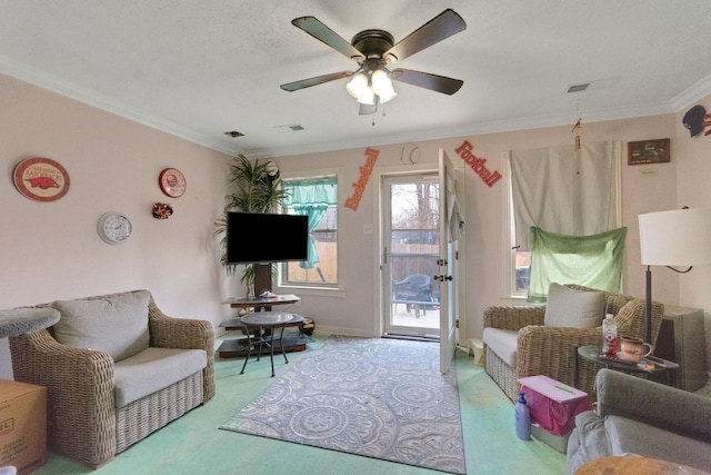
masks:
[[[594,398],[599,367],[581,359],[577,348],[602,345],[605,313],[614,315],[618,334],[644,338],[643,299],[577,285],[551,285],[551,288],[558,291],[549,289],[547,305],[493,306],[484,310],[485,372],[511,400],[518,398],[520,378],[544,375],[573,385],[575,368],[578,388]],[[589,308],[582,317],[573,317],[582,306]],[[663,314],[664,306],[654,303],[652,344]]]

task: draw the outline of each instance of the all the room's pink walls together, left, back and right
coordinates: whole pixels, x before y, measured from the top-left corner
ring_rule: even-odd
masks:
[[[219,253],[212,237],[229,157],[3,76],[0,99],[0,160],[6,176],[0,186],[0,308],[149,288],[159,306],[174,316],[210,319],[217,327],[231,314],[220,301],[243,290],[238,278],[226,277],[217,264]],[[625,293],[640,297],[644,295],[644,269],[637,216],[683,204],[711,206],[711,191],[704,186],[711,171],[705,151],[711,138],[687,139],[681,115],[585,123],[583,113],[583,142],[623,144],[623,224],[629,228],[623,286]],[[570,145],[571,128],[572,119],[570,127],[373,147],[380,155],[358,210],[341,209],[339,231],[344,236],[344,249],[340,266],[346,291],[338,296],[303,293],[300,313],[316,319],[317,330],[377,334],[380,249],[377,234],[365,234],[363,226],[375,225],[377,229],[380,174],[433,169],[439,148],[461,162],[454,149],[464,140],[474,146],[478,157],[487,158],[490,169],[502,171],[501,152]],[[672,139],[670,164],[627,165],[628,141],[658,138]],[[409,151],[415,146],[420,161],[403,165],[403,147]],[[365,161],[364,151],[359,148],[274,160],[284,174],[341,169],[341,186],[350,197],[350,184],[358,181],[359,167]],[[14,166],[33,156],[52,158],[67,168],[72,182],[64,198],[40,204],[14,189]],[[170,199],[159,190],[158,175],[166,167],[177,167],[186,175],[188,191],[183,197]],[[510,303],[502,274],[505,188],[503,180],[489,188],[464,166],[463,175],[467,283],[461,329],[463,337],[479,337],[483,309]],[[153,219],[150,209],[154,201],[171,202],[174,216],[167,221]],[[98,237],[96,224],[107,210],[121,211],[133,221],[134,235],[124,245],[109,246]],[[673,273],[655,273],[654,298],[709,309],[711,297],[704,291],[709,273],[699,269],[681,279]],[[8,368],[7,344],[0,342],[0,377],[8,377]]]

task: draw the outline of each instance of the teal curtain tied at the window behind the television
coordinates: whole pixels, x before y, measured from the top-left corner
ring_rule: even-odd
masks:
[[[309,217],[309,232],[313,231],[330,205],[338,205],[337,177],[310,178],[284,181],[288,197],[284,205],[298,215]],[[313,269],[319,263],[319,253],[309,236],[308,259],[299,263],[302,269]]]

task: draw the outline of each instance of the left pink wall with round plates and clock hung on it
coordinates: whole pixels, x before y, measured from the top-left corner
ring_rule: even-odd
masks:
[[[212,222],[228,157],[7,76],[0,103],[0,308],[148,288],[169,315],[222,319],[220,301],[236,284],[216,266]],[[67,169],[63,198],[38,202],[17,191],[13,169],[31,157]],[[158,187],[167,167],[187,177],[179,199]],[[174,215],[152,218],[156,201]],[[131,219],[129,241],[99,238],[97,220],[109,210]],[[3,339],[0,378],[10,374]]]

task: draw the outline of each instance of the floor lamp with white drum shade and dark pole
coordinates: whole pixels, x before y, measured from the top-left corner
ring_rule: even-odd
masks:
[[[647,342],[652,342],[652,271],[664,266],[685,274],[692,266],[711,265],[711,209],[684,208],[639,215],[640,250],[647,266]],[[677,269],[675,267],[685,267]]]

